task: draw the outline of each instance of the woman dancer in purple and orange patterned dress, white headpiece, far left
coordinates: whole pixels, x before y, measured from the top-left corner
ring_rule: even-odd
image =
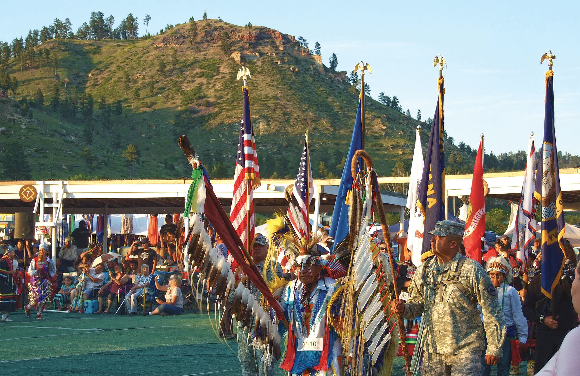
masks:
[[[43,243],[38,248],[39,255],[30,261],[28,274],[30,282],[28,283],[28,304],[24,306],[24,312],[30,318],[30,308],[38,305],[37,319],[42,320],[42,311],[46,303],[50,301],[50,279],[56,275],[56,267],[50,257],[48,257],[48,245]]]

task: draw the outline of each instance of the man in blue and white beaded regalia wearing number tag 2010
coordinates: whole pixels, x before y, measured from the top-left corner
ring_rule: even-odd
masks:
[[[280,367],[292,374],[340,376],[342,346],[327,314],[336,281],[323,274],[317,242],[311,239],[306,245],[295,244],[298,279],[290,282],[280,297],[289,322],[287,351]]]

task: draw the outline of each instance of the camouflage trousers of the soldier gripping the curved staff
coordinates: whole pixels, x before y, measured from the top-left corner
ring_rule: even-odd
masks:
[[[455,355],[425,352],[423,376],[480,376],[481,351],[465,351]]]

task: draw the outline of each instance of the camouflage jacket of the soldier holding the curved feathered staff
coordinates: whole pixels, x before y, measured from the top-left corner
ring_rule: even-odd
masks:
[[[457,275],[456,281],[449,283]],[[427,268],[427,270],[425,270]],[[466,290],[466,292],[462,292]],[[483,267],[458,254],[440,265],[437,257],[422,263],[411,279],[404,318],[423,312],[426,320],[423,349],[430,353],[454,355],[485,348],[484,327],[477,304],[481,305],[487,336],[487,354],[500,356],[505,338],[505,318],[497,290]]]

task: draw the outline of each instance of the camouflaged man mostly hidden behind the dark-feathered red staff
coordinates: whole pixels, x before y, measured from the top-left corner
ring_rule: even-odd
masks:
[[[266,263],[266,255],[268,254],[269,242],[264,235],[258,235],[254,239],[252,245],[252,260],[260,272],[264,270],[266,264],[266,282],[274,279],[274,277],[284,277],[284,271],[280,264],[276,263],[276,275],[272,268],[268,267]],[[248,289],[254,294],[256,300],[262,299],[262,293],[252,282],[247,282]],[[260,360],[264,356],[263,349],[254,349],[250,344],[253,340],[253,323],[245,327],[240,323],[238,325],[238,360],[242,366],[242,376],[274,376],[274,364],[264,367],[264,363]],[[266,368],[264,370],[264,368]]]

